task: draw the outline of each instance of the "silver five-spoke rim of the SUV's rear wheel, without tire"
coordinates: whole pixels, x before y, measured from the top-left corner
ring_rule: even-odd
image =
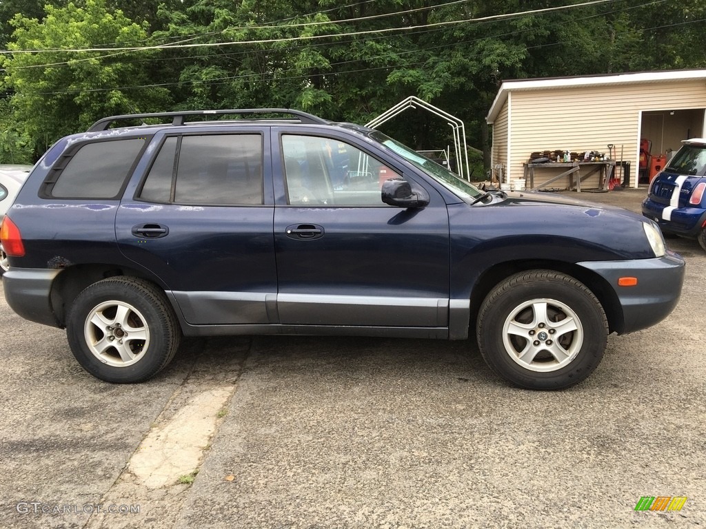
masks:
[[[129,303],[105,301],[88,313],[83,334],[91,353],[102,363],[127,367],[150,346],[145,317]]]

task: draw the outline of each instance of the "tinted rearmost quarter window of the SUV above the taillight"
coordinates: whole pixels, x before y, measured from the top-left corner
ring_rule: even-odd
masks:
[[[51,195],[62,198],[115,197],[143,145],[143,139],[83,145],[61,171]]]

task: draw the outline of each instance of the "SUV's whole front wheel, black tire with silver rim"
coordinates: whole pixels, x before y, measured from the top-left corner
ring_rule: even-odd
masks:
[[[550,270],[522,272],[498,284],[481,305],[476,329],[486,363],[528,389],[578,384],[600,363],[608,337],[596,296]]]

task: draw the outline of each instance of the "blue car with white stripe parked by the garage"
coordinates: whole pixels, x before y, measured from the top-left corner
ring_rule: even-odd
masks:
[[[663,233],[696,238],[706,250],[706,138],[683,144],[652,180],[642,214]]]

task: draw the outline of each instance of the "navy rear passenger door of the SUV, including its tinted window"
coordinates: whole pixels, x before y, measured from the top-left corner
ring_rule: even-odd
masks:
[[[190,324],[268,323],[277,271],[270,138],[161,134],[116,216],[121,251],[177,299]]]

